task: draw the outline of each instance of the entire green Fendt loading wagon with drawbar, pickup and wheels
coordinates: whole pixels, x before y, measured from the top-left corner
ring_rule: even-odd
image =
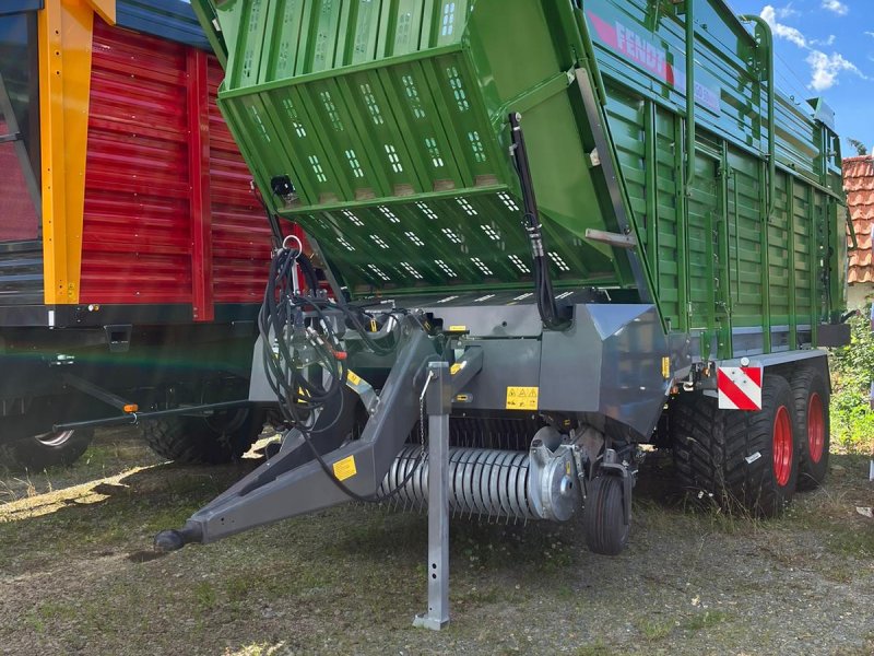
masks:
[[[286,241],[250,399],[290,430],[160,547],[427,504],[439,626],[448,507],[581,507],[617,553],[639,443],[763,515],[823,480],[818,347],[849,336],[839,140],[825,103],[775,89],[761,20],[721,0],[194,7],[228,126],[334,300]]]

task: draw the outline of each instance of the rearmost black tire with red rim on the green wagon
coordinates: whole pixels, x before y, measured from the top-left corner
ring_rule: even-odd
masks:
[[[813,490],[826,478],[830,446],[829,388],[814,367],[800,367],[792,376],[795,421],[799,427],[799,490]]]

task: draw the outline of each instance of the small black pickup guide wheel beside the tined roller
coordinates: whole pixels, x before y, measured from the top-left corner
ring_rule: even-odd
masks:
[[[582,526],[590,551],[618,555],[628,546],[630,522],[625,520],[623,505],[623,480],[619,477],[600,476],[589,483]]]

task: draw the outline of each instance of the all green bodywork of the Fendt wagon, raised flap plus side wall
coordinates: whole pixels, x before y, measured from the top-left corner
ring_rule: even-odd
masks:
[[[768,133],[770,54],[722,0],[694,2],[694,154],[686,2],[194,3],[221,27],[220,106],[264,197],[356,295],[530,289],[519,112],[559,290],[637,289],[706,358],[815,343],[840,307],[839,140],[779,94]],[[623,216],[636,249],[587,238]]]

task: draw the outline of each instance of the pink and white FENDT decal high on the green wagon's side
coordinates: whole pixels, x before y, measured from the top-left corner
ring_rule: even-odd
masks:
[[[668,62],[668,51],[664,48],[647,40],[619,21],[609,23],[591,11],[588,13],[598,38],[606,46],[666,82],[680,93],[686,93],[686,75]],[[695,101],[713,112],[718,113],[720,109],[719,92],[708,89],[697,81],[695,82]]]

